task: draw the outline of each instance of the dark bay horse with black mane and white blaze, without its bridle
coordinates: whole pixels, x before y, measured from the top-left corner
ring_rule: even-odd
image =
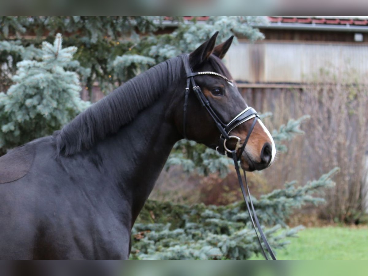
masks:
[[[217,33],[189,57],[217,116],[230,122],[247,107],[221,59],[232,37]],[[131,228],[173,145],[183,139],[183,57],[152,67],[79,114],[60,131],[0,158],[0,259],[127,259]],[[215,149],[220,132],[194,93],[185,135]],[[255,120],[255,119],[254,119]],[[249,120],[231,131],[244,141]],[[229,141],[228,148],[234,147]],[[239,159],[262,170],[275,144],[260,120]]]

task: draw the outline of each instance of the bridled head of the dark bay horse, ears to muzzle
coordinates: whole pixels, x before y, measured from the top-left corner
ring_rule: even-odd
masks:
[[[255,110],[248,107],[221,61],[233,36],[215,46],[216,37],[217,33],[187,57],[186,73],[189,81],[188,95],[184,102],[184,110],[187,110],[183,114],[182,108],[177,109],[177,128],[188,139],[213,149],[223,148],[223,153],[228,156],[235,150],[244,170],[265,169],[275,158],[275,142]],[[185,58],[183,60],[185,66]],[[182,100],[180,97],[181,105]],[[243,115],[247,112],[251,113],[245,118]],[[238,124],[236,120],[239,120]],[[245,141],[246,145],[242,147]]]

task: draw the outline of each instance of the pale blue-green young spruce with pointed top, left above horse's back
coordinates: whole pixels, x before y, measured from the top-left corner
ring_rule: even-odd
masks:
[[[0,93],[0,149],[49,135],[88,107],[89,102],[79,95],[78,74],[65,69],[79,68],[78,61],[72,60],[77,49],[63,49],[60,34],[53,44],[43,42],[40,50],[1,43],[0,51],[5,48],[35,59],[18,62],[13,84]]]

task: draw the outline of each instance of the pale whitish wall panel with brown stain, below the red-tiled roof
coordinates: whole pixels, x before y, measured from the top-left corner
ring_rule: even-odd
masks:
[[[224,62],[239,83],[305,83],[320,74],[346,70],[368,79],[368,43],[240,41]]]

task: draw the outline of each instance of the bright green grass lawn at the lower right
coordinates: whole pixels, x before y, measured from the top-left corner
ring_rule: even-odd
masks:
[[[368,260],[368,228],[307,228],[277,250],[279,260]],[[252,258],[262,260],[262,256]]]

